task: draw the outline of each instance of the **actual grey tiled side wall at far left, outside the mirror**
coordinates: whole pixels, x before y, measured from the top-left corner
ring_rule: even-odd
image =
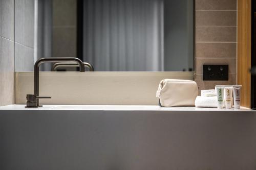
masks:
[[[14,103],[14,0],[0,0],[0,106]]]

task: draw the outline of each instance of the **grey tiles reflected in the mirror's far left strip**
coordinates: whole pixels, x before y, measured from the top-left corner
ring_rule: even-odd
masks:
[[[33,71],[34,0],[15,0],[15,71]]]

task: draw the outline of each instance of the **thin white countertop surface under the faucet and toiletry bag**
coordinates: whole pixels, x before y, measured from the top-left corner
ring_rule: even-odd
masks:
[[[43,105],[38,108],[25,108],[26,105],[8,105],[0,107],[0,110],[120,110],[120,111],[234,111],[256,112],[248,108],[241,109],[217,109],[196,107],[160,107],[157,105]]]

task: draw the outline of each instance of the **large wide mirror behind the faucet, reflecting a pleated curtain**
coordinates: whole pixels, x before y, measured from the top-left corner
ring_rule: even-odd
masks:
[[[32,71],[41,57],[77,57],[91,63],[95,71],[194,71],[194,1],[34,3],[33,59],[27,62],[15,54],[15,71]],[[15,4],[15,14],[16,10]],[[41,70],[51,67],[44,64]]]

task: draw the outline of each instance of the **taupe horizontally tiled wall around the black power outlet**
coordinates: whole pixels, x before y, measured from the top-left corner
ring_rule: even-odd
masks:
[[[199,90],[236,84],[237,0],[195,0],[195,80]],[[228,64],[228,81],[203,81],[203,64]]]

